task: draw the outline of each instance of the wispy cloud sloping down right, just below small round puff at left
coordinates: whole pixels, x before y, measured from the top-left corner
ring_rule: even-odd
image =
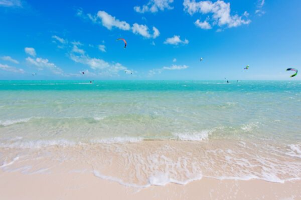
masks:
[[[37,57],[36,59],[33,59],[31,57],[27,57],[26,60],[35,66],[37,66],[38,70],[43,70],[45,68],[49,69],[55,74],[64,75],[64,71],[57,67],[54,63],[49,62],[48,59],[43,59],[41,57]]]

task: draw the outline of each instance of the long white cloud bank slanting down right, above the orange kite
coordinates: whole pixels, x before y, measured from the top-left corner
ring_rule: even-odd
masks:
[[[115,16],[112,16],[105,11],[98,11],[97,14],[93,16],[91,14],[85,15],[82,9],[78,9],[77,15],[85,19],[90,19],[94,23],[102,24],[109,30],[111,30],[113,27],[122,30],[131,30],[134,34],[140,34],[146,38],[156,38],[160,35],[159,30],[155,26],[153,26],[153,33],[150,33],[149,28],[145,24],[142,25],[134,23],[132,26],[130,26],[126,21],[116,19]]]

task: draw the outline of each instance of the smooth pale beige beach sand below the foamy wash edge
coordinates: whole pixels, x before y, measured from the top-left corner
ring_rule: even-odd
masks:
[[[0,199],[301,199],[301,180],[202,178],[186,185],[134,188],[93,173],[0,172]]]

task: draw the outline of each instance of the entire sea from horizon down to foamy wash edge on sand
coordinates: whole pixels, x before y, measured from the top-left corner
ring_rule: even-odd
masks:
[[[301,179],[301,81],[2,80],[0,170]]]

